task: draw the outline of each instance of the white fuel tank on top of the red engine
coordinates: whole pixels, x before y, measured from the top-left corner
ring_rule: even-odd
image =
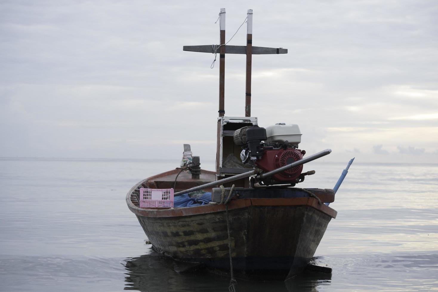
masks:
[[[266,142],[268,143],[284,144],[289,141],[289,145],[298,147],[301,135],[300,128],[296,124],[276,124],[266,127]]]

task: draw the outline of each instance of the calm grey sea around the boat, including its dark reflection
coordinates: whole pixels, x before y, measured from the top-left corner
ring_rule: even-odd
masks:
[[[438,165],[358,160],[315,254],[332,275],[238,280],[238,292],[438,290]],[[317,173],[300,186],[332,188],[346,163],[308,163]],[[124,202],[178,164],[0,158],[0,291],[228,291],[228,278],[173,271]]]

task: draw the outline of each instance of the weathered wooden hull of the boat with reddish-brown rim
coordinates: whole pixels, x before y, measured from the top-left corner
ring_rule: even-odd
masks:
[[[148,186],[148,180],[132,188]],[[224,205],[176,209],[128,207],[155,250],[182,261],[229,271]],[[233,268],[241,278],[285,280],[299,274],[314,256],[336,211],[315,198],[242,198],[228,204]]]

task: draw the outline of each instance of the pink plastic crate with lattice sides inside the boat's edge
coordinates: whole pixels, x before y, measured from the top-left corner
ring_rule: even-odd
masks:
[[[140,208],[173,207],[173,188],[140,188]]]

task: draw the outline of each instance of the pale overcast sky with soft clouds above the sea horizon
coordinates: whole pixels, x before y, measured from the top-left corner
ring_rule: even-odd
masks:
[[[214,160],[219,62],[253,9],[252,116],[324,159],[438,163],[438,2],[0,0],[0,156]],[[244,24],[229,45],[245,45]],[[219,59],[219,56],[218,56]],[[226,116],[245,56],[227,55]]]

